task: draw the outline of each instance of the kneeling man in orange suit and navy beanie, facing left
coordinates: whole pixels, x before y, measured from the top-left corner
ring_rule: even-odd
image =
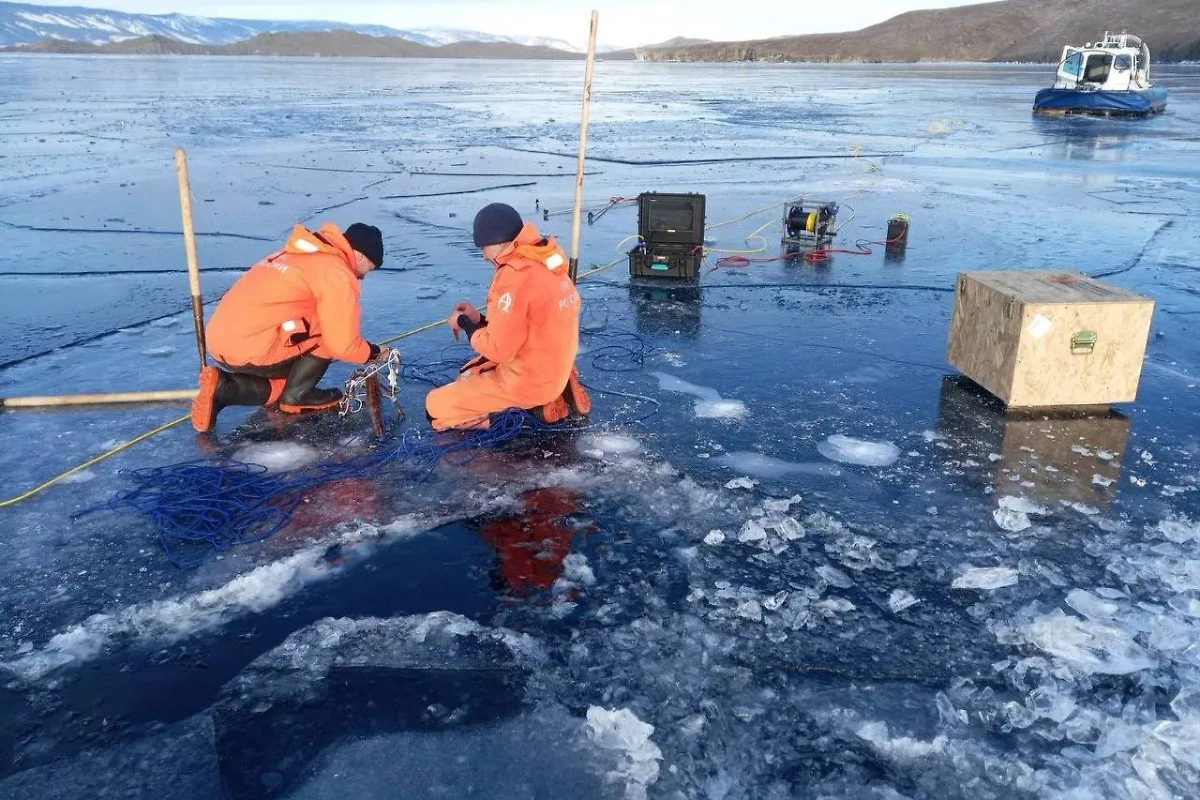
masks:
[[[571,411],[586,415],[590,402],[575,372],[580,295],[563,248],[502,203],[475,215],[474,241],[496,267],[487,313],[460,302],[448,321],[455,338],[466,333],[479,356],[463,366],[458,380],[425,398],[433,427],[487,427],[491,414],[511,408],[534,411],[545,422]]]

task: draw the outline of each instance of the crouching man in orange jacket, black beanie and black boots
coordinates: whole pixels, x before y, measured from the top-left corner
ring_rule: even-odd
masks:
[[[361,281],[383,264],[383,235],[354,223],[343,234],[325,223],[295,225],[287,243],[238,278],[205,329],[220,368],[200,371],[192,425],[212,428],[228,405],[271,405],[289,414],[341,402],[337,389],[318,389],[330,362],[388,357],[359,331]]]

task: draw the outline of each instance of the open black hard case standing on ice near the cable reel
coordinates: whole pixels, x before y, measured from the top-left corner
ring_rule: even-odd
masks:
[[[631,277],[695,281],[704,260],[704,196],[643,192],[637,237],[629,251]]]

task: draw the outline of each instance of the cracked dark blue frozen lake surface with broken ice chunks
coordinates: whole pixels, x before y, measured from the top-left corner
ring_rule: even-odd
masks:
[[[0,396],[194,385],[179,145],[210,300],[296,221],[371,222],[378,339],[481,299],[482,204],[569,241],[581,64],[0,65]],[[198,569],[73,515],[121,470],[299,467],[365,421],[229,411],[0,510],[0,796],[1196,796],[1200,70],[1141,121],[1033,119],[1050,77],[598,65],[589,205],[703,192],[710,247],[757,258],[804,194],[844,246],[910,213],[907,252],[690,293],[618,261],[581,284],[596,428],[318,487]],[[582,269],[634,233],[586,225]],[[1007,419],[955,379],[955,275],[1020,267],[1154,297],[1135,404]],[[430,377],[452,345],[401,343]],[[0,414],[2,494],[182,411]]]

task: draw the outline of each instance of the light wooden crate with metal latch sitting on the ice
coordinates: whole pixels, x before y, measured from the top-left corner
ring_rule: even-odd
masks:
[[[964,272],[946,357],[1009,408],[1129,403],[1153,312],[1079,272]]]

